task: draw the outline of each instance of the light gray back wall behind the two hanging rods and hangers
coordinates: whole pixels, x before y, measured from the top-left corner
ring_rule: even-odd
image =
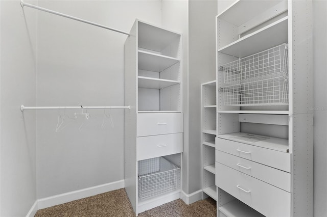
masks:
[[[40,1],[39,6],[127,32],[135,18],[161,24],[159,0]],[[39,12],[37,105],[123,105],[126,37]],[[74,112],[80,111],[66,115]],[[37,113],[37,198],[124,179],[123,110],[112,110],[114,127],[106,120],[103,129],[104,111],[88,113],[89,121],[78,118],[59,132],[58,111]]]

